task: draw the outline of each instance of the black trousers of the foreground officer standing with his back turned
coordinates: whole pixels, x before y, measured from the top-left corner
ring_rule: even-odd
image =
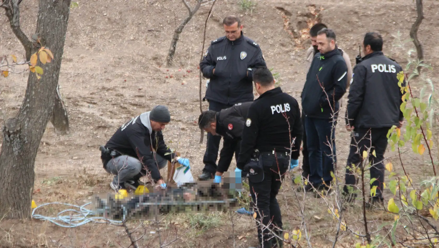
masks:
[[[284,179],[284,174],[289,166],[289,156],[285,152],[277,152],[276,155],[272,152],[263,152],[259,159],[262,160],[264,171],[262,182],[255,183],[252,175],[248,175],[252,203],[257,207],[257,209],[254,209],[257,215],[256,219],[262,222],[264,226],[269,226],[270,230],[273,230],[279,237],[283,237],[280,230],[282,229],[281,208],[277,203],[276,196],[281,187],[281,180]],[[262,221],[261,215],[263,217]],[[271,224],[269,225],[270,221]],[[258,227],[259,244],[262,245],[263,243],[264,247],[271,247],[271,244],[275,244],[277,238],[273,238],[270,230],[267,230],[259,223],[256,225]]]

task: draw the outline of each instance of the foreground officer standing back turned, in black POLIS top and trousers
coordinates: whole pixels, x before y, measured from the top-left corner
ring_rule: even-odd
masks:
[[[299,104],[274,86],[268,68],[258,68],[253,82],[260,96],[248,109],[235,176],[240,177],[241,171],[248,173],[259,244],[279,248],[283,243],[276,235],[283,237],[282,216],[276,196],[289,165],[297,165],[303,128]],[[259,224],[268,226],[270,221],[269,229]]]

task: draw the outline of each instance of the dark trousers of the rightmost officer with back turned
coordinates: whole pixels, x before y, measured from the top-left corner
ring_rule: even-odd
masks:
[[[346,177],[345,177],[345,187],[344,191],[348,193],[349,185],[356,185],[357,180],[353,175],[353,170],[349,170],[352,168],[352,164],[359,166],[361,164],[361,160],[363,159],[363,151],[369,152],[369,162],[363,162],[365,164],[364,168],[370,168],[371,179],[376,178],[376,180],[372,183],[371,188],[377,186],[376,198],[382,197],[382,189],[384,183],[384,170],[385,166],[383,163],[384,153],[387,148],[387,132],[389,131],[389,127],[386,128],[356,128],[352,133],[350,151],[347,162],[346,169]],[[358,144],[358,145],[357,145]],[[375,151],[376,157],[372,154]],[[365,182],[369,184],[368,182]]]

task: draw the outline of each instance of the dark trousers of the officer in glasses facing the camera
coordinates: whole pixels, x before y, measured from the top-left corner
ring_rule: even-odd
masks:
[[[216,101],[209,101],[209,110],[212,111],[221,111],[222,109],[230,108],[231,106],[233,105],[222,104]],[[220,141],[221,136],[212,135],[210,133],[207,134],[206,152],[203,158],[203,172],[208,172],[211,174],[216,173],[216,159],[218,158]]]

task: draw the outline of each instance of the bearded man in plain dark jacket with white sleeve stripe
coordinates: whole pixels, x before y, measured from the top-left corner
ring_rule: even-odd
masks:
[[[310,165],[310,183],[305,186],[306,191],[313,190],[313,187],[327,189],[336,162],[335,121],[338,101],[346,92],[348,68],[335,42],[335,33],[331,29],[317,32],[320,53],[314,56],[302,90]]]

